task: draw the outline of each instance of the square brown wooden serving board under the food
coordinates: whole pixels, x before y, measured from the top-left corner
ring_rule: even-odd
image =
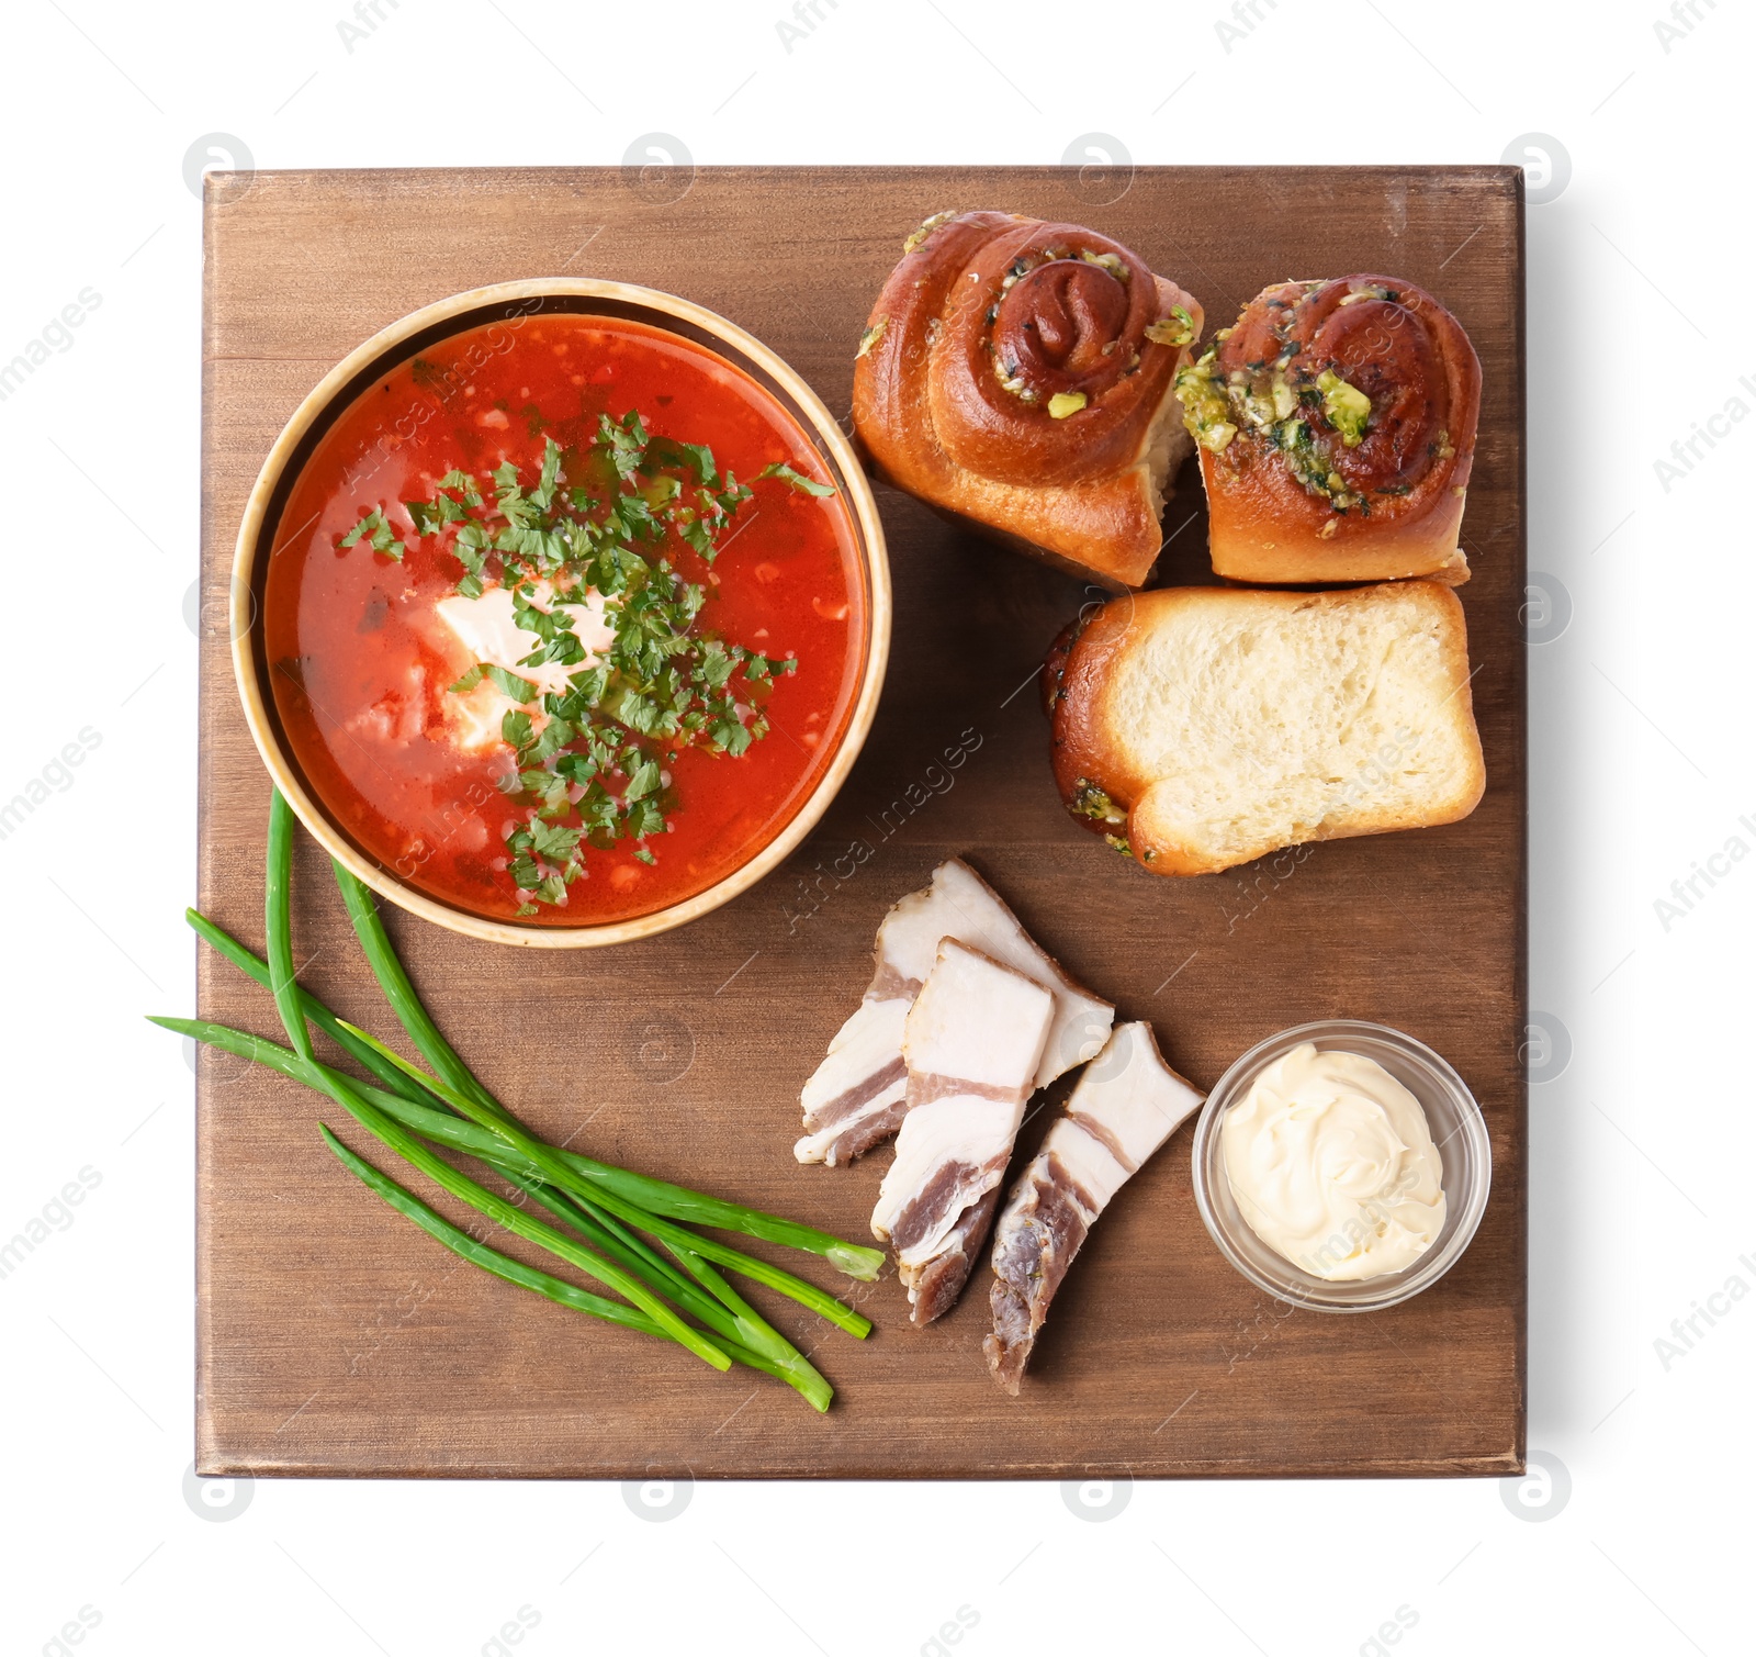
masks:
[[[832,1411],[817,1416],[776,1381],[741,1369],[715,1376],[678,1348],[464,1267],[334,1161],[314,1095],[204,1053],[202,1472],[1521,1471],[1515,169],[279,172],[258,174],[241,197],[211,192],[200,903],[260,949],[269,784],[232,685],[232,541],[269,445],[346,351],[464,288],[609,276],[723,313],[843,413],[855,343],[903,237],[936,209],[985,206],[1117,237],[1191,288],[1210,327],[1271,279],[1350,271],[1405,276],[1461,318],[1484,371],[1465,518],[1475,575],[1461,589],[1489,778],[1475,815],[1231,875],[1145,875],[1068,819],[1048,775],[1033,673],[1096,594],[880,490],[896,578],[885,699],[846,789],[781,872],[704,921],[608,951],[497,949],[386,910],[404,959],[465,1058],[550,1139],[859,1239],[889,1153],[852,1169],[801,1169],[790,1149],[799,1084],[866,986],[885,908],[961,854],[1047,949],[1117,1002],[1119,1017],[1152,1019],[1199,1086],[1252,1042],[1306,1019],[1382,1019],[1436,1047],[1475,1089],[1493,1139],[1493,1198],[1475,1244],[1436,1288],[1394,1311],[1292,1313],[1208,1241],[1185,1126],[1092,1234],[1015,1400],[982,1360],[985,1269],[952,1316],[917,1330],[894,1274],[860,1286],[792,1256],[825,1286],[852,1290],[878,1325],[862,1344],[753,1292],[836,1383]],[[1166,532],[1159,580],[1210,580],[1192,464]],[[304,980],[344,1014],[388,1026],[309,842],[297,875]],[[211,952],[200,958],[200,1010],[277,1030],[267,995]],[[1047,1121],[1029,1123],[1022,1154]]]

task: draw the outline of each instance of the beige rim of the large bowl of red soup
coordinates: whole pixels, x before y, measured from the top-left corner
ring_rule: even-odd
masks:
[[[860,675],[853,706],[848,710],[839,747],[824,775],[810,796],[799,805],[787,826],[774,835],[748,863],[739,865],[722,880],[646,915],[627,921],[609,921],[588,926],[520,926],[513,921],[497,921],[488,915],[476,915],[427,893],[416,891],[400,880],[393,872],[385,870],[371,857],[363,856],[353,842],[330,822],[323,805],[307,791],[299,768],[283,750],[274,720],[269,715],[267,696],[256,671],[255,629],[262,622],[256,615],[255,575],[262,550],[262,531],[269,508],[281,481],[288,474],[288,466],[295,460],[297,450],[311,429],[325,418],[342,392],[353,385],[369,367],[386,355],[397,351],[418,334],[432,330],[435,325],[460,318],[471,311],[481,311],[499,304],[518,306],[536,299],[588,299],[601,300],[606,308],[625,306],[632,311],[657,313],[658,318],[680,322],[685,327],[674,332],[685,339],[715,350],[715,344],[729,346],[732,353],[745,357],[760,374],[766,374],[783,392],[778,399],[785,406],[792,401],[799,423],[825,452],[825,460],[832,471],[839,473],[843,497],[855,522],[860,539],[860,555],[867,582],[867,636],[866,666]],[[507,316],[513,313],[509,311]],[[530,315],[525,311],[523,315]],[[590,315],[590,313],[583,313]],[[613,309],[609,315],[616,315]],[[648,320],[634,316],[630,320]],[[650,327],[662,327],[662,322],[648,322]],[[694,332],[690,332],[694,330]],[[695,336],[706,336],[697,339]],[[730,360],[730,358],[729,358]],[[743,364],[732,360],[732,367]],[[759,376],[752,376],[760,385]],[[774,392],[762,387],[769,395]],[[432,921],[450,931],[478,938],[488,944],[511,944],[522,949],[597,949],[609,944],[625,944],[636,938],[648,938],[671,928],[683,926],[701,915],[729,903],[748,891],[780,863],[783,863],[822,821],[831,801],[841,791],[853,761],[871,733],[873,719],[878,712],[878,698],[883,691],[885,668],[890,655],[890,559],[885,546],[883,522],[878,517],[878,501],[873,496],[871,481],[860,466],[852,441],[841,431],[834,415],[822,397],[804,381],[769,346],[753,334],[738,327],[706,306],[658,288],[646,288],[637,283],[609,281],[592,276],[550,276],[529,278],[522,281],[490,283],[481,288],[469,288],[462,293],[434,300],[406,316],[397,318],[362,341],[341,362],[335,364],[300,401],[291,418],[281,429],[269,448],[244,504],[237,541],[232,555],[232,590],[230,590],[230,643],[232,671],[237,682],[239,699],[244,708],[244,722],[249,727],[256,752],[274,780],[274,785],[286,796],[286,803],[306,826],[309,835],[344,868],[363,880],[381,898],[406,908],[409,914]]]

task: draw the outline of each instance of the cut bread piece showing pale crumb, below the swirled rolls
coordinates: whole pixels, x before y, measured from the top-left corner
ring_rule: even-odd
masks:
[[[1047,687],[1068,810],[1161,875],[1456,822],[1486,785],[1463,606],[1433,582],[1115,599]]]

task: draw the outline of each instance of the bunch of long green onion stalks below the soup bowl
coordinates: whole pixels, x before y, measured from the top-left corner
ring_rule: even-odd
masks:
[[[674,1341],[713,1369],[723,1371],[736,1362],[773,1374],[794,1386],[815,1409],[827,1409],[834,1395],[829,1381],[727,1283],[723,1270],[787,1295],[855,1337],[864,1339],[871,1332],[871,1321],[817,1284],[690,1230],[690,1225],[711,1225],[806,1249],[862,1281],[876,1277],[882,1253],[778,1214],[599,1163],[534,1135],[481,1086],[444,1038],[390,944],[372,893],[341,865],[335,865],[335,879],[355,935],[392,1012],[430,1070],[409,1063],[360,1026],[337,1017],[297,982],[291,947],[291,845],[293,814],[276,791],[269,814],[263,903],[267,959],[251,954],[205,915],[188,912],[190,924],[209,945],[274,995],[291,1046],[281,1047],[205,1019],[158,1017],[153,1023],[265,1065],[327,1095],[379,1144],[441,1190],[622,1299],[611,1300],[578,1288],[490,1248],[342,1144],[327,1123],[320,1123],[323,1142],[342,1167],[462,1260],[558,1306]],[[321,1063],[311,1044],[309,1024],[316,1024],[374,1081],[360,1081]],[[434,1147],[478,1160],[565,1230],[481,1186],[435,1154]]]

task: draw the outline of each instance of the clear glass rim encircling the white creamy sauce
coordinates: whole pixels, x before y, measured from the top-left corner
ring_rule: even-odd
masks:
[[[1326,1293],[1333,1288],[1328,1279],[1313,1277],[1310,1272],[1299,1270],[1299,1267],[1296,1267],[1291,1260],[1284,1262],[1284,1270],[1289,1274],[1289,1279],[1296,1281],[1275,1281],[1261,1270],[1256,1262],[1243,1255],[1233,1241],[1226,1223],[1219,1218],[1213,1195],[1210,1191],[1206,1165],[1212,1160],[1219,1179],[1226,1177],[1222,1151],[1219,1149],[1219,1125],[1226,1111],[1229,1111],[1231,1105],[1241,1096],[1241,1084],[1245,1081],[1254,1081],[1266,1063],[1291,1053],[1301,1042],[1326,1038],[1335,1046],[1343,1046],[1349,1037],[1370,1038],[1389,1047],[1396,1047],[1405,1058],[1426,1068],[1440,1091],[1450,1095],[1454,1105],[1457,1107],[1457,1126],[1452,1128],[1452,1133],[1461,1135],[1463,1142],[1468,1146],[1470,1165],[1475,1177],[1468,1183],[1465,1191],[1445,1191],[1450,1214],[1456,1214],[1456,1221],[1450,1223],[1450,1214],[1447,1214],[1450,1235],[1445,1237],[1440,1246],[1428,1249],[1426,1255],[1419,1256],[1412,1265],[1400,1272],[1385,1272],[1378,1279],[1363,1279],[1363,1283],[1382,1283],[1382,1290],[1378,1290],[1378,1293],[1354,1300],[1336,1300],[1329,1299]],[[1370,1053],[1364,1056],[1371,1058]],[[1421,1100],[1421,1109],[1422,1114],[1426,1114],[1426,1100]],[[1226,1068],[1226,1074],[1213,1084],[1212,1093],[1208,1093],[1201,1105],[1201,1114],[1196,1119],[1196,1132],[1189,1147],[1191,1188],[1194,1191],[1196,1209],[1201,1214],[1201,1223],[1213,1239],[1213,1246],[1241,1277],[1254,1283],[1264,1293],[1273,1295],[1287,1306],[1298,1306],[1305,1311],[1315,1313],[1350,1314],[1385,1311],[1387,1307],[1401,1306],[1405,1300],[1412,1300],[1415,1295],[1438,1283],[1440,1277],[1443,1277],[1465,1256],[1470,1244],[1475,1241],[1482,1216],[1487,1212],[1487,1198],[1493,1191],[1493,1140],[1487,1133],[1487,1119],[1482,1116],[1482,1105],[1470,1084],[1457,1074],[1443,1054],[1435,1053],[1419,1037],[1408,1035],[1407,1030],[1398,1030],[1394,1024],[1380,1024],[1373,1019],[1312,1019],[1310,1023],[1292,1024],[1287,1030],[1278,1030],[1259,1040],[1249,1051],[1233,1060],[1233,1063]],[[1240,1223],[1249,1228],[1249,1221],[1240,1218]],[[1263,1246],[1268,1248],[1268,1244]]]

